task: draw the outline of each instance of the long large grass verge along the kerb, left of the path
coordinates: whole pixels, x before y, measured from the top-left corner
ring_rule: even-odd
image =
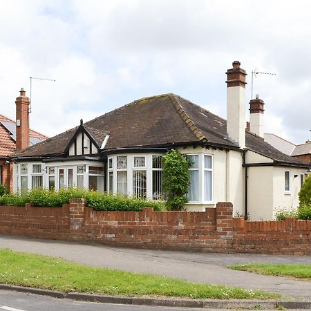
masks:
[[[194,299],[277,299],[279,294],[80,265],[61,258],[0,250],[0,283],[126,296],[176,296]]]

